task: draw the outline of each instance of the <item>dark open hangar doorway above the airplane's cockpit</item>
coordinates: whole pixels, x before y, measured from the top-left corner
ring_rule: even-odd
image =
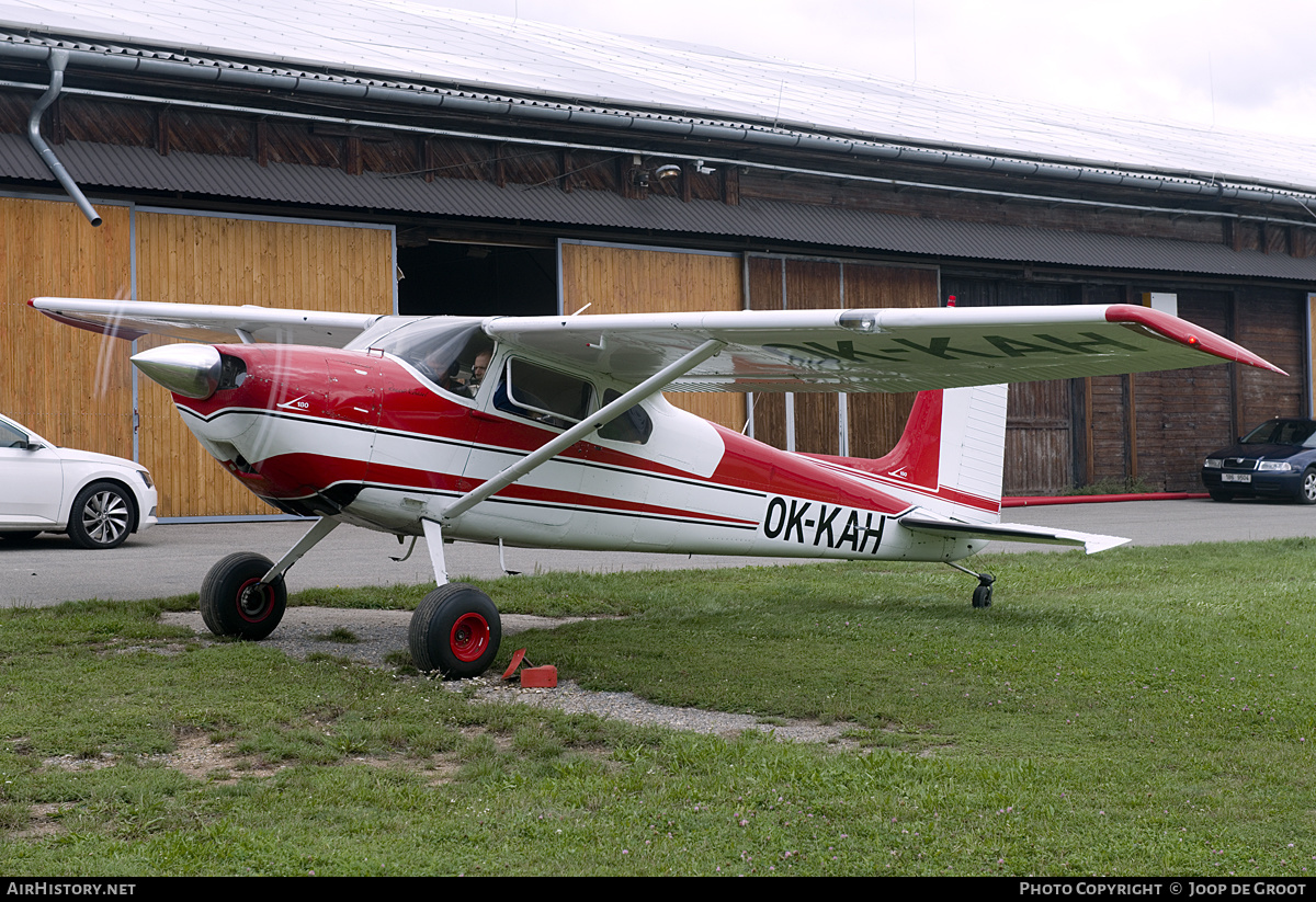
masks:
[[[403,316],[554,316],[558,256],[549,247],[428,241],[397,249]]]

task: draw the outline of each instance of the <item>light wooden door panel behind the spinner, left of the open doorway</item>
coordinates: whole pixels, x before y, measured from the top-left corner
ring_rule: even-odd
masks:
[[[137,216],[138,297],[392,313],[392,233],[175,213]],[[166,339],[143,338],[145,350]],[[270,514],[192,438],[168,392],[138,380],[141,460],[162,517]]]

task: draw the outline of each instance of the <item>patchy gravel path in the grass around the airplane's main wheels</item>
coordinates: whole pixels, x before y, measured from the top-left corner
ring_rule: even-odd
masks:
[[[524,630],[553,629],[583,619],[558,619],[529,614],[503,614],[501,617],[504,639]],[[201,622],[200,611],[168,613],[163,614],[161,619],[174,626],[186,626],[203,639],[211,635]],[[305,659],[312,652],[324,652],[362,661],[371,667],[391,667],[386,656],[407,648],[409,623],[411,611],[290,607],[283,615],[279,629],[265,640],[265,644],[274,646],[299,659]],[[329,634],[336,629],[350,630],[358,642],[328,640]],[[590,692],[570,680],[561,681],[555,689],[521,689],[517,682],[503,682],[499,676],[491,672],[483,677],[453,680],[445,685],[454,692],[474,685],[475,697],[484,702],[557,707],[572,714],[596,714],[628,723],[665,726],[674,730],[724,736],[733,736],[745,730],[761,730],[771,732],[778,739],[834,743],[841,739],[841,734],[845,731],[841,724],[821,724],[812,721],[787,721],[782,724],[759,723],[758,718],[751,714],[724,714],[697,707],[667,707],[646,702],[626,692]]]

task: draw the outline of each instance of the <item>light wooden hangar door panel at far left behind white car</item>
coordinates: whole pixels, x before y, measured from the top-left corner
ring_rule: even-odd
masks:
[[[57,444],[132,458],[129,343],[28,306],[39,295],[129,296],[129,210],[97,212],[92,227],[70,202],[0,197],[0,412]]]

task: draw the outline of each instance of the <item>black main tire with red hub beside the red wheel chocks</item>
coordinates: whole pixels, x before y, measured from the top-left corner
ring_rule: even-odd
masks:
[[[465,582],[449,582],[416,606],[408,639],[417,671],[472,677],[494,663],[503,621],[487,594]]]

